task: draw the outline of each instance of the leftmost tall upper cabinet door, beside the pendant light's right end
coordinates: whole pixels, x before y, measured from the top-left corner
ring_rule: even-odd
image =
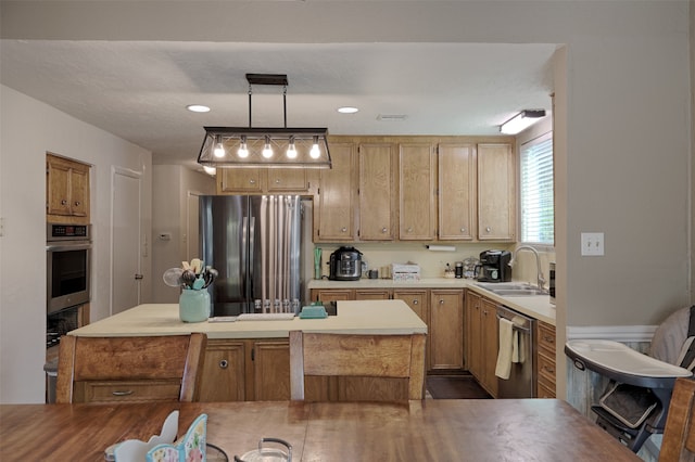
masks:
[[[355,240],[356,153],[353,143],[331,143],[331,169],[321,169],[314,204],[314,242]]]

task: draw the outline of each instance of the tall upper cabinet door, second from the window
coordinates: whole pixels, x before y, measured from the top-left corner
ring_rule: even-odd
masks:
[[[439,239],[471,241],[476,217],[476,156],[472,144],[440,144]]]

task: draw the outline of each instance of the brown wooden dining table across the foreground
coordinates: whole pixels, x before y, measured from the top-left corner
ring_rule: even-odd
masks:
[[[103,461],[128,438],[159,434],[179,410],[179,437],[207,414],[207,442],[229,460],[263,437],[294,461],[639,461],[565,401],[426,399],[374,402],[1,405],[1,461]]]

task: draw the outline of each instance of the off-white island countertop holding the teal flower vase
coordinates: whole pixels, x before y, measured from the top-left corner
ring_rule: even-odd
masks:
[[[338,316],[285,321],[181,322],[178,304],[147,304],[68,333],[77,336],[151,336],[204,332],[208,338],[283,338],[290,331],[426,334],[427,325],[402,300],[338,301]]]

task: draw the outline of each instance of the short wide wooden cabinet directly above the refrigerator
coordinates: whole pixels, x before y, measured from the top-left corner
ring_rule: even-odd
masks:
[[[218,168],[219,194],[308,193],[312,172],[303,168]]]

